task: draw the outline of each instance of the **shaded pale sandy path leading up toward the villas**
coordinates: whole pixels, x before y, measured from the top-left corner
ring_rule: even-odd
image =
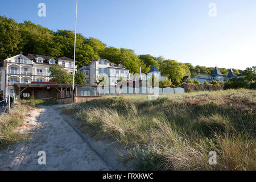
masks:
[[[71,126],[51,106],[30,112],[26,118],[30,140],[0,152],[0,170],[110,170]],[[46,165],[38,164],[39,151],[46,152]]]

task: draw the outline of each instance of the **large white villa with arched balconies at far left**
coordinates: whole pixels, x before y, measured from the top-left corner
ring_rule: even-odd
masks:
[[[68,57],[60,57],[55,60],[42,55],[28,54],[24,56],[20,52],[19,55],[3,60],[1,73],[3,97],[5,98],[7,94],[13,96],[15,83],[48,82],[51,78],[49,67],[52,64],[63,65],[64,69],[73,73],[73,60]],[[77,66],[75,66],[75,71],[77,71]]]

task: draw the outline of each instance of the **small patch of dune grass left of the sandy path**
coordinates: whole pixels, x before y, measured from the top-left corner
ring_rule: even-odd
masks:
[[[18,105],[11,109],[10,113],[0,115],[0,149],[24,139],[24,136],[15,133],[14,129],[23,125],[23,119],[29,110],[31,107]]]

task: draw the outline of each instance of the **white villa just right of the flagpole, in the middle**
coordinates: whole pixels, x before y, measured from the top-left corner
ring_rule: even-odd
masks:
[[[109,85],[116,85],[119,78],[129,80],[129,70],[122,64],[114,64],[106,59],[92,60],[89,64],[84,64],[79,71],[84,73],[87,85],[95,85],[101,75],[108,77]]]

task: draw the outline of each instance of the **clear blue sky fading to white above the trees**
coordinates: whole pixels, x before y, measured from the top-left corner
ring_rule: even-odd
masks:
[[[38,4],[46,4],[46,17]],[[209,4],[217,16],[210,17]],[[8,0],[0,14],[51,30],[75,28],[75,0]],[[77,32],[108,46],[182,63],[245,69],[256,65],[255,0],[79,0]]]

